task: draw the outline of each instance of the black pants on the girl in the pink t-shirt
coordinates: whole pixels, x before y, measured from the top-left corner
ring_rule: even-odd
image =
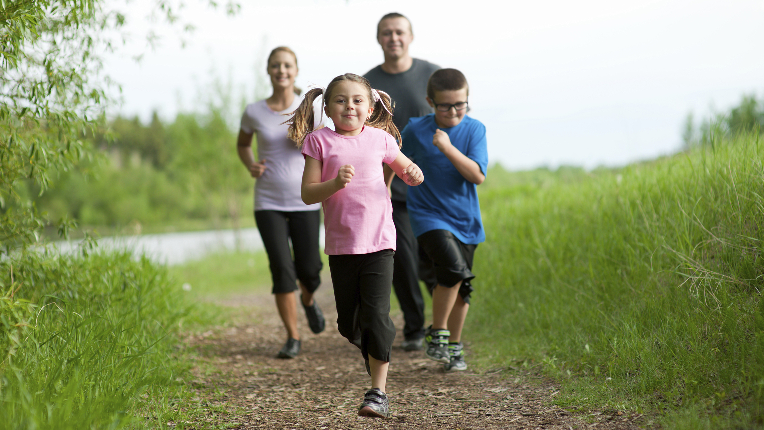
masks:
[[[337,328],[361,354],[390,361],[395,325],[390,319],[391,249],[329,256],[337,303]]]

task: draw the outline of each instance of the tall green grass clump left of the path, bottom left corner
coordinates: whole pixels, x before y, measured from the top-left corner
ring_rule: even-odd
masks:
[[[0,292],[0,428],[164,428],[186,312],[167,270],[28,252],[0,260]]]

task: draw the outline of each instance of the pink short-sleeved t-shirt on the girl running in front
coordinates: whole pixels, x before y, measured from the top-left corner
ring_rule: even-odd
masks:
[[[348,186],[323,202],[326,254],[395,249],[393,205],[384,184],[382,163],[392,163],[399,152],[395,138],[387,131],[368,126],[356,136],[322,128],[305,138],[303,154],[323,163],[321,182],[337,177],[345,164],[355,169]]]

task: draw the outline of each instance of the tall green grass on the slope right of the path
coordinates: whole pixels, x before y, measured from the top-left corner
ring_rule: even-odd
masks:
[[[483,192],[476,356],[539,364],[568,380],[568,405],[586,397],[694,411],[667,425],[760,426],[762,196],[759,134]]]

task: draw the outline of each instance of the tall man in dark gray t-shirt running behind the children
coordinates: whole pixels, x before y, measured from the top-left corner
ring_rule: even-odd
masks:
[[[374,89],[381,89],[395,102],[393,121],[403,131],[409,118],[432,113],[426,101],[427,80],[440,66],[409,55],[409,44],[414,39],[411,23],[399,13],[384,15],[377,24],[377,41],[384,52],[384,63],[369,70],[364,77]],[[406,183],[393,175],[390,186],[393,201],[393,222],[397,231],[397,250],[393,262],[393,289],[403,311],[406,325],[406,351],[422,349],[424,338],[425,304],[419,289],[419,244],[411,230],[406,210]]]

